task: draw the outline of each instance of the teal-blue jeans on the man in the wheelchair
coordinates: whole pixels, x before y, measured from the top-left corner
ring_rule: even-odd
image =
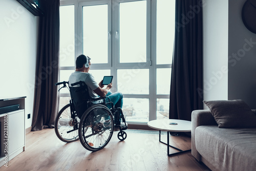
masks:
[[[108,92],[108,94],[106,94],[106,98],[105,98],[105,102],[113,102],[114,104],[114,108],[122,108],[123,106],[123,94],[119,93],[119,92]],[[107,104],[106,105],[109,109],[112,108],[111,104]],[[119,114],[120,115],[120,114]],[[118,120],[116,119],[116,117],[114,117],[114,122],[117,123]],[[109,118],[110,119],[110,118]],[[105,120],[108,120],[108,118],[105,118]],[[119,121],[120,121],[120,117],[119,117]]]

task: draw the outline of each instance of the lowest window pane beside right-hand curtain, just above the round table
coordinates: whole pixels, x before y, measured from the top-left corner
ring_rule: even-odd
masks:
[[[169,99],[157,99],[157,119],[169,119]]]

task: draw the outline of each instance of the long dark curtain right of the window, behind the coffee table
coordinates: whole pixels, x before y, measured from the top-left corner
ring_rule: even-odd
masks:
[[[203,109],[202,0],[176,0],[169,118],[191,120]]]

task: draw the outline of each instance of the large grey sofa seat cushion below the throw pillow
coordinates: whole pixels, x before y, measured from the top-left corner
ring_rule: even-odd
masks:
[[[214,170],[255,170],[256,128],[203,125],[196,128],[195,135],[197,151]]]

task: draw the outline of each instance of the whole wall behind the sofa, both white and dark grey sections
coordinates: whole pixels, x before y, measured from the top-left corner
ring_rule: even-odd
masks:
[[[256,109],[256,34],[243,24],[245,2],[205,1],[204,100],[242,99]]]

